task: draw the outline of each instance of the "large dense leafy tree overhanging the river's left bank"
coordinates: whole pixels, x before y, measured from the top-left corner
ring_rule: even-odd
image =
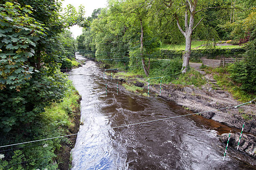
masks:
[[[63,97],[67,80],[56,72],[61,59],[56,46],[61,47],[60,33],[79,23],[83,11],[67,19],[71,13],[61,17],[57,0],[4,2],[0,5],[0,129],[8,132],[13,125],[20,128],[32,122],[45,106]]]

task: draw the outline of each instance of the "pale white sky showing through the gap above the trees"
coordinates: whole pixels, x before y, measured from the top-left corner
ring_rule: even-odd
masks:
[[[68,4],[73,5],[78,9],[79,5],[83,5],[85,7],[85,16],[91,16],[93,10],[98,9],[100,7],[106,7],[108,0],[64,0],[62,1],[62,7],[67,7]],[[77,38],[78,35],[82,34],[82,28],[74,25],[70,27],[70,31],[73,33],[73,37]]]

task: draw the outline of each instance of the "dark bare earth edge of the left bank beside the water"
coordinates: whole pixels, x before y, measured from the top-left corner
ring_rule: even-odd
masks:
[[[77,94],[79,95],[79,94]],[[80,96],[77,102],[80,106],[80,101],[82,100],[82,97]],[[68,132],[66,135],[71,135],[78,133],[79,126],[80,126],[80,107],[74,107],[72,111],[71,122],[74,124],[71,128],[68,129]],[[68,170],[71,166],[71,159],[70,159],[70,152],[74,148],[74,145],[77,140],[77,135],[72,135],[67,137],[68,141],[61,143],[61,148],[59,150],[56,150],[54,153],[57,155],[56,162],[58,163],[58,169],[59,170]]]

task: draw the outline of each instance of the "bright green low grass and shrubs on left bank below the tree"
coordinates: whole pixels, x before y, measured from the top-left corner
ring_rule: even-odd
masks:
[[[67,82],[67,88],[63,90],[63,93],[62,102],[53,102],[50,106],[45,107],[45,112],[41,112],[30,127],[24,126],[22,128],[22,132],[26,131],[30,136],[20,134],[19,130],[18,132],[11,131],[8,133],[9,136],[5,136],[5,143],[0,139],[0,144],[9,144],[10,139],[15,139],[12,143],[18,143],[67,135],[67,132],[74,126],[72,122],[74,119],[73,112],[74,109],[79,108],[77,102],[79,95],[70,81]],[[56,153],[60,150],[61,145],[65,146],[68,142],[65,138],[57,138],[11,147],[20,149],[4,152],[5,158],[0,159],[0,170],[56,170],[58,169],[58,164],[54,163]],[[32,147],[30,147],[31,145]],[[58,155],[57,160],[60,156]],[[58,163],[60,162],[58,161]]]

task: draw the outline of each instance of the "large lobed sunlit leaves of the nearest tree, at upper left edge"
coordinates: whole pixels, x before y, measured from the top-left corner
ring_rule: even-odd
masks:
[[[39,35],[42,28],[34,18],[29,17],[30,13],[29,6],[22,8],[17,2],[0,5],[0,37],[3,37],[0,43],[1,90],[5,87],[18,90],[34,73],[33,67],[27,68],[28,59],[35,53],[30,47],[36,47],[38,40],[33,32]]]

